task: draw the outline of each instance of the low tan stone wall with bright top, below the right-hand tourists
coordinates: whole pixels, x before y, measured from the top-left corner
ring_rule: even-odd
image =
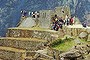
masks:
[[[75,36],[75,37],[79,36],[79,34],[81,32],[87,32],[88,34],[90,34],[90,29],[89,28],[84,28],[84,27],[82,27],[82,28],[79,28],[79,27],[74,28],[72,26],[72,27],[65,27],[65,28],[63,28],[63,30],[66,32],[65,33],[66,35]]]

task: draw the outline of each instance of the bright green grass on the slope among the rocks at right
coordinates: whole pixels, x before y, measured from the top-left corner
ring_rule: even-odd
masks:
[[[90,44],[90,42],[87,42],[86,40],[81,40],[81,39],[79,40],[83,44]],[[61,40],[61,42],[57,42],[55,45],[53,44],[52,48],[65,52],[65,51],[70,50],[75,45],[77,44],[75,43],[74,39],[68,38],[68,39]]]

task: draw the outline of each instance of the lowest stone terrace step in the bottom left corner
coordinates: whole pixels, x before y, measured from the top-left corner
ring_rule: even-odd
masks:
[[[26,50],[0,46],[2,60],[24,60]]]

